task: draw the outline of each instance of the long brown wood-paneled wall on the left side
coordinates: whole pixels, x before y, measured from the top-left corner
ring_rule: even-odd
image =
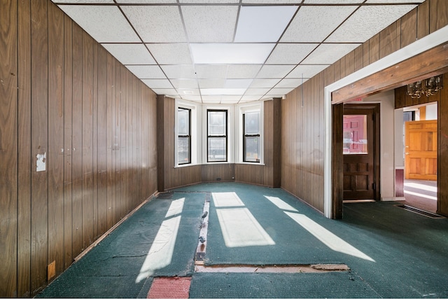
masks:
[[[28,297],[157,190],[156,99],[51,1],[0,1],[0,57],[0,297]]]

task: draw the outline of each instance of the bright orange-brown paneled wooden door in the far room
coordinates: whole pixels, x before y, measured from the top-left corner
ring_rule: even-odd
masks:
[[[405,179],[437,180],[437,120],[405,123]]]

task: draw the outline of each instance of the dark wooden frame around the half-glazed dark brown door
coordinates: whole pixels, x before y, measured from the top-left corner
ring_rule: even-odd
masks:
[[[356,103],[356,104],[344,104],[344,109],[345,108],[349,108],[349,109],[371,109],[372,110],[372,116],[373,116],[373,148],[374,148],[374,153],[373,153],[373,165],[374,165],[374,169],[373,169],[373,176],[374,176],[374,183],[375,183],[375,190],[373,193],[373,199],[375,201],[379,201],[381,200],[381,193],[379,192],[381,190],[381,181],[380,181],[380,174],[381,174],[381,169],[380,169],[380,140],[381,140],[381,136],[380,136],[380,125],[381,125],[381,121],[380,121],[380,104],[379,103]],[[343,111],[344,111],[343,109]],[[342,116],[344,116],[344,113],[342,114]],[[337,128],[335,127],[335,130],[337,130]],[[342,126],[340,127],[340,130],[342,130]],[[341,151],[342,152],[342,151]],[[342,160],[344,159],[344,154],[342,154]]]

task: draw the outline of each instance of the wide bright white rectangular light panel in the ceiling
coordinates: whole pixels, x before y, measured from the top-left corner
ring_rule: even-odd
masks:
[[[197,64],[262,64],[274,43],[191,43]]]

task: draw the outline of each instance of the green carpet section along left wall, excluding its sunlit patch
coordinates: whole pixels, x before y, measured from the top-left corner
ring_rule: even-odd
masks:
[[[162,196],[163,197],[163,196]],[[37,297],[137,298],[146,297],[151,283],[136,283],[148,250],[172,200],[186,197],[172,263],[155,276],[186,276],[194,270],[193,257],[199,235],[204,193],[174,194],[144,204],[109,236],[62,273]],[[150,282],[152,277],[149,278]],[[146,290],[146,293],[145,293]]]

